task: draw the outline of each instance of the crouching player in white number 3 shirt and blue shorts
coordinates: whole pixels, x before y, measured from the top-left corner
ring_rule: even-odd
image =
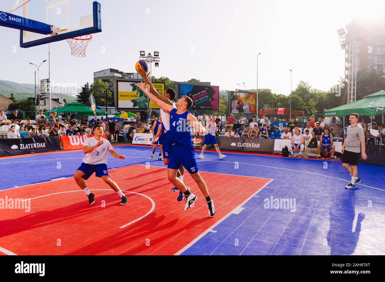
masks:
[[[121,205],[126,205],[127,197],[122,193],[115,181],[111,180],[107,171],[108,152],[117,159],[125,159],[125,157],[118,155],[114,149],[112,149],[111,143],[107,139],[102,138],[103,128],[101,125],[95,125],[93,131],[94,137],[85,139],[83,144],[85,157],[83,158],[82,165],[75,171],[74,178],[76,183],[87,194],[88,201],[90,205],[92,205],[95,202],[95,194],[88,190],[84,180],[90,178],[95,172],[96,177],[101,177],[105,183],[110,185],[110,187],[121,196]]]

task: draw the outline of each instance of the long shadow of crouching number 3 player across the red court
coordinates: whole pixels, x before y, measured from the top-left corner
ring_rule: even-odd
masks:
[[[76,193],[76,192],[73,192],[73,193]],[[65,193],[65,194],[68,195],[73,193]],[[50,210],[50,211],[33,212],[33,200],[31,200],[31,207],[32,207],[31,212],[26,213],[26,215],[23,217],[0,221],[0,230],[1,230],[0,238],[8,235],[13,235],[18,232],[32,230],[35,228],[40,228],[51,224],[60,223],[66,220],[79,218],[82,216],[89,216],[90,218],[92,218],[92,213],[100,212],[100,209],[108,210],[109,208],[115,205],[119,205],[120,203],[119,195],[117,195],[114,191],[112,191],[112,193],[100,196],[99,201],[96,201],[94,205],[90,206],[88,204],[88,200],[84,192],[79,190],[79,194],[81,193],[83,193],[82,195],[84,196],[82,197],[83,199],[82,201],[79,201],[78,203],[74,203],[69,206],[56,208],[55,210]],[[130,193],[127,195],[127,198],[130,198],[133,196],[136,196],[136,194]],[[95,200],[98,200],[98,198],[95,198]],[[100,206],[101,200],[105,200],[106,202],[106,205],[104,208]],[[72,227],[72,226],[74,225],[70,225],[69,227]],[[10,227],[10,228],[7,228],[7,227]],[[65,226],[63,226],[63,229],[65,229]],[[55,232],[58,232],[58,231],[59,230]]]

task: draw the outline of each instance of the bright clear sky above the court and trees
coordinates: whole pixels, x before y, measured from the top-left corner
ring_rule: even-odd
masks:
[[[37,7],[32,0],[29,9]],[[83,0],[77,0],[83,1]],[[76,8],[76,2],[71,7]],[[2,0],[9,10],[15,0]],[[156,77],[210,81],[220,90],[258,87],[290,94],[300,81],[327,90],[344,76],[344,50],[337,29],[356,17],[385,13],[385,1],[100,0],[103,31],[93,36],[87,57],[70,55],[67,42],[51,44],[51,80],[93,81],[93,72],[134,72],[139,50],[159,51]],[[36,12],[36,11],[35,11]],[[22,15],[22,9],[16,12]],[[48,45],[23,49],[19,32],[0,27],[0,79],[34,83],[34,67],[48,59]],[[15,47],[16,46],[16,47]],[[14,52],[16,50],[16,53]],[[105,52],[102,52],[105,50]],[[48,77],[48,62],[40,78]]]

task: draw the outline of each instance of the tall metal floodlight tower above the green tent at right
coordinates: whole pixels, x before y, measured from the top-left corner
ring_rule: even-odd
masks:
[[[357,52],[358,45],[363,44],[362,37],[365,34],[363,29],[360,29],[356,24],[346,25],[348,33],[344,29],[337,30],[340,37],[341,49],[345,49],[345,79],[348,81],[348,97],[347,103],[356,101],[357,94]],[[347,49],[347,52],[346,52]],[[347,56],[347,57],[346,57]],[[347,73],[346,73],[347,61]]]

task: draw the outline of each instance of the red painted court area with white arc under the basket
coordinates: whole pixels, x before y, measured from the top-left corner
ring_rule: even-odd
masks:
[[[7,209],[0,214],[0,250],[17,255],[174,255],[271,181],[201,172],[216,207],[210,218],[188,173],[184,182],[198,200],[183,211],[185,202],[176,201],[166,171],[143,165],[110,170],[112,180],[126,191],[127,205],[120,205],[119,195],[95,176],[86,181],[96,194],[91,206],[73,178],[0,191],[0,198],[31,199],[30,212]]]

